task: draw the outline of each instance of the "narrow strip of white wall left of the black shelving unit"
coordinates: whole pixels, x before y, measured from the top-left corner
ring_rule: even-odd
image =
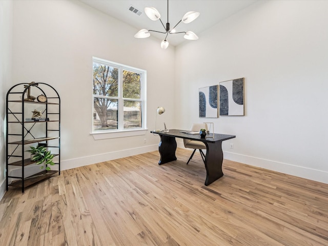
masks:
[[[6,94],[11,87],[12,56],[12,18],[11,1],[0,1],[0,199],[6,191],[6,150],[4,120],[6,115]]]

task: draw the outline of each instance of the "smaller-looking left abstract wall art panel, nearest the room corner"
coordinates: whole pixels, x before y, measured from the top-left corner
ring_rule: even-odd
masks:
[[[217,90],[218,86],[208,86],[199,88],[199,117],[217,118]]]

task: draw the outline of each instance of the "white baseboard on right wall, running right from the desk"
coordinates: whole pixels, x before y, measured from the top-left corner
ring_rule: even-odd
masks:
[[[236,154],[229,151],[223,151],[223,156],[224,159],[244,163],[250,166],[269,169],[272,171],[311,179],[322,183],[328,183],[328,172],[325,171],[300,167],[289,163],[267,160],[253,156]]]

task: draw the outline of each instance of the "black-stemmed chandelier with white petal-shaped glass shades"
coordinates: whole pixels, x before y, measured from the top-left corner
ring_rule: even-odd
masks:
[[[169,33],[170,34],[177,34],[177,33],[185,33],[185,35],[183,36],[184,38],[188,39],[188,40],[197,40],[198,36],[192,32],[192,31],[187,31],[187,32],[176,32],[175,31],[175,27],[180,23],[191,23],[194,19],[196,19],[199,16],[199,12],[194,12],[194,11],[190,11],[187,12],[185,15],[183,15],[182,19],[172,28],[170,29],[170,23],[169,23],[169,0],[168,0],[168,22],[166,24],[166,26],[164,26],[162,20],[160,19],[160,13],[158,12],[157,9],[153,8],[153,7],[146,7],[145,8],[145,13],[146,15],[151,19],[151,20],[157,20],[159,19],[162,26],[165,29],[165,32],[160,32],[160,31],[154,31],[154,30],[147,30],[147,29],[141,29],[140,31],[138,31],[134,37],[136,38],[145,38],[145,37],[149,37],[150,36],[150,32],[159,32],[159,33],[165,33],[166,37],[164,40],[162,40],[162,42],[160,43],[160,47],[162,49],[166,49],[169,47],[169,42],[166,40],[166,38],[168,37]]]

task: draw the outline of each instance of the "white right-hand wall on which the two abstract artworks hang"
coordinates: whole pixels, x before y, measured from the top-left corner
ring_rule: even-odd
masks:
[[[220,116],[224,157],[328,182],[328,2],[259,1],[176,48],[176,117],[198,117],[198,89],[245,77],[245,116]],[[230,143],[234,149],[230,149]]]

